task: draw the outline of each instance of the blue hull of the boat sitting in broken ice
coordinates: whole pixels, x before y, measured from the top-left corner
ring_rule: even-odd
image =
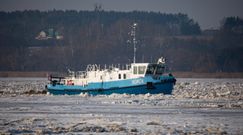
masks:
[[[134,80],[140,80],[141,84],[132,84]],[[137,81],[138,82],[138,81]],[[138,82],[139,83],[139,82]],[[53,95],[75,95],[80,93],[88,93],[91,95],[110,95],[112,93],[118,94],[171,94],[175,84],[174,77],[161,77],[154,80],[151,77],[123,80],[116,82],[96,83],[90,86],[76,86],[76,85],[61,85],[48,84],[47,89]]]

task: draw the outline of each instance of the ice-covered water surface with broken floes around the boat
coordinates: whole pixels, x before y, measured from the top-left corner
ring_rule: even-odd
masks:
[[[0,133],[243,134],[243,79],[178,79],[173,95],[53,96],[46,83],[0,79]]]

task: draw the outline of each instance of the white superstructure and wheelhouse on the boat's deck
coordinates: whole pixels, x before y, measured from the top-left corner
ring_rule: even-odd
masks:
[[[126,69],[119,69],[110,66],[108,69],[101,69],[97,65],[88,65],[86,71],[74,73],[69,71],[69,76],[63,79],[64,84],[88,85],[90,82],[108,82],[123,79],[144,77],[149,63],[132,63],[126,65]]]

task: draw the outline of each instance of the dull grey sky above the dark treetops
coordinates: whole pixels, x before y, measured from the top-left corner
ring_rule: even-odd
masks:
[[[243,18],[243,0],[0,0],[0,11],[94,10],[95,4],[105,11],[184,13],[202,29],[219,28],[225,17]]]

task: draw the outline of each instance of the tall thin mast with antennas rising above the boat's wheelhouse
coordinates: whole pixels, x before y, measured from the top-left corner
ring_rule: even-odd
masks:
[[[132,44],[133,44],[133,63],[136,63],[136,51],[137,51],[136,27],[137,27],[137,23],[133,23],[131,33],[129,33],[132,37]],[[129,40],[128,40],[128,42],[131,43],[131,41],[129,41]]]

